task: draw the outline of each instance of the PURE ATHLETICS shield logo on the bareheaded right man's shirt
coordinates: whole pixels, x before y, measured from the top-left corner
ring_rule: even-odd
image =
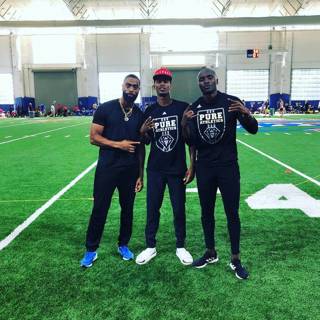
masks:
[[[223,108],[199,110],[197,124],[200,136],[210,144],[218,142],[225,131],[225,115]]]

